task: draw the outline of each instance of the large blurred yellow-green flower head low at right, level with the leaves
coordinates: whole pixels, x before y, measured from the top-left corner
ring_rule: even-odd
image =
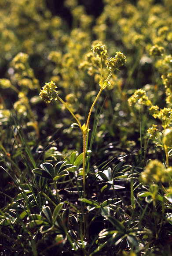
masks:
[[[140,175],[144,184],[151,184],[152,181],[167,182],[169,177],[172,177],[172,168],[165,169],[158,160],[151,160]]]

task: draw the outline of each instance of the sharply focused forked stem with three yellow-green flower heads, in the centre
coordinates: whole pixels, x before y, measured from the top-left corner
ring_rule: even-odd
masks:
[[[86,139],[88,137],[88,133],[90,131],[89,129],[89,123],[90,123],[90,117],[92,109],[94,108],[95,103],[98,101],[100,94],[107,86],[109,86],[110,82],[109,79],[112,75],[112,72],[115,70],[118,70],[121,66],[123,66],[126,63],[126,56],[124,56],[123,53],[117,52],[115,57],[111,57],[108,59],[108,53],[105,49],[105,45],[102,45],[102,43],[97,43],[92,48],[93,53],[97,55],[99,58],[99,73],[100,73],[100,81],[99,81],[99,87],[100,90],[95,97],[94,102],[91,105],[91,108],[88,113],[88,117],[86,120],[86,123],[81,124],[80,120],[77,118],[77,115],[73,113],[72,109],[69,107],[67,102],[64,102],[62,98],[59,96],[57,89],[57,86],[53,81],[49,83],[45,83],[44,87],[42,87],[42,90],[40,91],[40,98],[42,98],[45,102],[55,102],[59,100],[63,105],[65,105],[66,109],[69,110],[73,118],[77,121],[77,125],[81,129],[82,136],[83,136],[83,164],[82,164],[82,176],[83,176],[83,197],[86,198],[87,192],[85,190],[86,187],[86,175],[85,175],[85,156],[86,156]],[[106,79],[102,79],[102,61],[106,61],[106,68],[110,70],[109,75],[106,77]],[[73,125],[73,124],[72,124]],[[84,219],[84,235],[86,234],[86,223]]]

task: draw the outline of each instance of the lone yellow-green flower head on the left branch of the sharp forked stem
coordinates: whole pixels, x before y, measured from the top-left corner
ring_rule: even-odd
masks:
[[[56,101],[57,94],[58,94],[58,91],[56,91],[56,88],[57,86],[53,81],[49,83],[45,83],[45,85],[42,87],[42,90],[40,90],[40,98],[47,103]]]

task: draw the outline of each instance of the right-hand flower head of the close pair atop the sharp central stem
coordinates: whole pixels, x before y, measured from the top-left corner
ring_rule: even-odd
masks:
[[[119,69],[121,66],[123,66],[126,63],[126,61],[127,61],[126,56],[121,52],[117,52],[114,57],[108,60],[107,68],[109,70]]]

